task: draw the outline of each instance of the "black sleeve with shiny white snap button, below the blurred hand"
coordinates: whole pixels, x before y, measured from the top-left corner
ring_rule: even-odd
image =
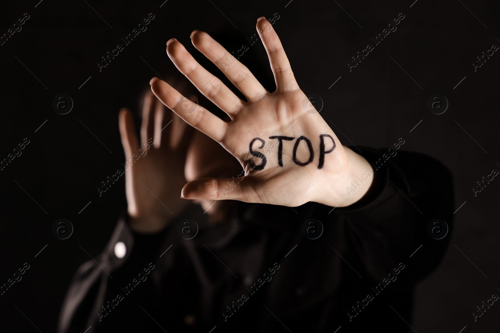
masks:
[[[131,282],[153,261],[168,227],[157,234],[139,234],[128,227],[126,219],[127,215],[123,212],[103,252],[76,271],[62,304],[59,333],[84,332],[90,326],[92,328],[88,332],[95,332],[98,314],[102,313],[101,307],[109,298],[109,285],[125,286],[123,281]],[[114,254],[114,246],[118,242],[125,244],[123,258]],[[143,284],[146,283],[150,284],[151,279],[146,279]]]

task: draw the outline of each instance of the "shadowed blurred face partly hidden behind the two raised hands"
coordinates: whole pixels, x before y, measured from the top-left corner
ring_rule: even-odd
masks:
[[[242,170],[234,156],[229,154],[220,144],[200,131],[194,130],[187,148],[184,165],[184,176],[188,182],[205,177],[238,177]],[[201,205],[203,211],[206,211],[213,204],[212,200],[195,200],[195,202]],[[214,209],[210,208],[206,213],[213,212]]]

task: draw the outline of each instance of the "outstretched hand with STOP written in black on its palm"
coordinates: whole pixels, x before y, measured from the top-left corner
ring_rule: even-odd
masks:
[[[190,36],[194,47],[223,71],[246,102],[200,66],[180,42],[174,38],[167,42],[168,56],[178,70],[231,121],[222,121],[160,79],[151,79],[152,91],[188,124],[219,142],[245,171],[235,186],[233,179],[194,180],[184,186],[182,196],[283,206],[308,201],[339,207],[352,204],[366,192],[371,178],[354,194],[349,195],[345,188],[356,176],[371,170],[369,163],[343,147],[308,103],[271,24],[261,17],[256,27],[274,73],[274,92],[264,89],[207,33],[194,30]]]

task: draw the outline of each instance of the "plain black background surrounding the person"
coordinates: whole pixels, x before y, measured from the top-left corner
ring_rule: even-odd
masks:
[[[0,10],[0,34],[25,12],[30,15],[22,30],[0,46],[0,159],[29,139],[22,155],[0,171],[0,284],[24,263],[30,265],[22,280],[0,296],[1,327],[54,332],[73,273],[107,242],[126,204],[124,177],[101,197],[97,191],[101,181],[122,167],[118,110],[137,110],[149,79],[171,75],[174,66],[165,42],[176,37],[201,61],[189,40],[193,29],[237,51],[249,44],[246,38],[256,32],[256,19],[274,13],[279,18],[273,27],[297,82],[306,94],[321,97],[321,114],[328,124],[334,123],[332,129],[344,145],[388,147],[402,137],[401,150],[433,156],[453,173],[455,209],[465,203],[454,214],[442,264],[416,288],[412,328],[458,333],[466,326],[467,333],[498,327],[500,305],[493,305],[477,322],[471,315],[493,293],[500,295],[500,180],[495,177],[475,197],[472,191],[482,176],[500,170],[500,55],[495,52],[476,72],[472,66],[482,51],[500,45],[497,3],[38,1],[2,3]],[[124,45],[120,38],[151,12],[155,17],[147,30],[99,72],[101,56],[117,43]],[[405,18],[397,30],[349,72],[351,56],[373,44],[370,38],[401,12]],[[273,90],[260,41],[240,61]],[[214,65],[206,68],[220,74]],[[68,114],[52,109],[59,93],[74,102]],[[434,93],[449,102],[443,114],[435,115],[426,106]],[[66,240],[52,234],[58,218],[74,227]]]

